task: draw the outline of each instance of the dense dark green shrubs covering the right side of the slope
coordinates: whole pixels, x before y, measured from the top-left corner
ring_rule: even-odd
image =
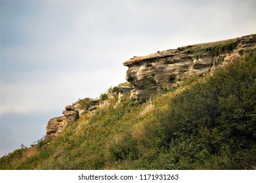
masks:
[[[161,143],[178,169],[255,167],[256,54],[245,59],[185,89],[158,115]]]

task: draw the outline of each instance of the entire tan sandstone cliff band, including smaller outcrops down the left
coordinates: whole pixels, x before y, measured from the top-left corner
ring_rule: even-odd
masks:
[[[118,97],[119,105],[124,93],[130,93],[132,100],[147,101],[164,89],[172,88],[192,75],[205,75],[215,68],[234,61],[245,53],[256,50],[256,35],[248,35],[227,41],[196,44],[140,56],[125,61],[129,67],[126,79],[132,85],[120,85],[108,99]],[[129,84],[129,85],[130,85]],[[67,125],[83,114],[94,114],[98,108],[108,107],[108,99],[85,98],[66,106],[64,115],[49,120],[46,137],[58,136]]]

